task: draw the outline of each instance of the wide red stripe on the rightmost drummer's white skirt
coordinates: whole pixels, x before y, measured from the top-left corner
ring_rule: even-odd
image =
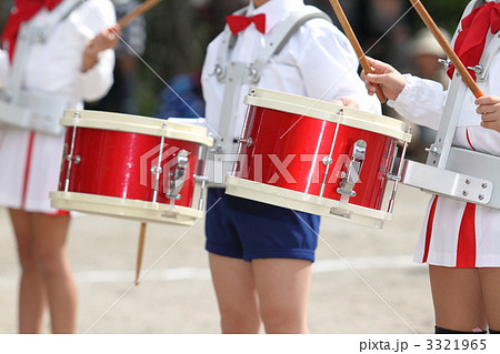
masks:
[[[476,204],[467,203],[460,223],[457,267],[476,267]]]

